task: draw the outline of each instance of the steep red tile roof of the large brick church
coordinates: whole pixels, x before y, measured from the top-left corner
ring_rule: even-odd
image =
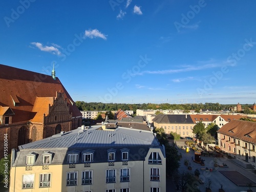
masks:
[[[42,105],[39,107],[39,103],[50,102],[49,97],[53,100],[56,92],[65,93],[64,99],[67,99],[73,117],[81,116],[75,102],[57,77],[54,80],[50,75],[0,65],[0,105],[9,106],[15,113],[13,123],[37,120],[39,113],[42,113],[37,110],[46,108]]]

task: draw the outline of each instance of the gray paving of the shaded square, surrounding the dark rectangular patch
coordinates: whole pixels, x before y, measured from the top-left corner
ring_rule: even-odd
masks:
[[[198,168],[200,170],[200,176],[199,178],[204,182],[204,184],[200,184],[200,190],[203,192],[205,191],[205,187],[207,186],[206,183],[208,182],[208,179],[211,180],[211,191],[219,191],[219,188],[221,188],[221,184],[223,186],[223,189],[225,192],[239,192],[239,191],[247,191],[248,186],[238,186],[234,184],[231,180],[229,180],[227,177],[225,177],[223,174],[219,172],[219,170],[236,170],[237,172],[241,173],[243,176],[249,178],[253,182],[256,182],[256,175],[253,173],[252,170],[245,170],[242,167],[232,163],[229,161],[226,157],[223,158],[216,158],[216,157],[201,157],[203,160],[205,160],[205,166],[201,166],[201,164],[198,164],[192,160],[195,158],[195,152],[193,150],[189,150],[189,153],[186,153],[185,150],[178,150],[178,153],[182,154],[182,158],[180,160],[180,168],[179,172],[182,173],[184,172],[191,172],[194,174],[195,169]],[[188,159],[189,164],[192,167],[192,170],[188,170],[188,167],[184,164],[184,160]],[[217,161],[217,164],[222,165],[227,164],[228,167],[215,167],[214,163]],[[206,172],[205,170],[201,170],[201,168],[215,168],[217,169],[214,172]],[[237,179],[242,179],[237,178]],[[253,191],[256,191],[256,187],[253,186],[251,187]]]

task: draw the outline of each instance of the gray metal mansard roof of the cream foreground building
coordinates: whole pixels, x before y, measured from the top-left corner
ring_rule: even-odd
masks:
[[[94,151],[94,162],[106,162],[107,151],[111,148],[116,150],[116,161],[121,161],[121,150],[127,148],[130,151],[130,161],[143,160],[141,150],[148,152],[149,148],[160,148],[162,146],[151,131],[134,130],[125,127],[118,127],[115,131],[98,130],[101,126],[94,126],[92,129],[83,131],[73,130],[65,134],[57,134],[52,137],[35,141],[19,146],[16,151],[16,160],[13,166],[24,166],[26,155],[34,152],[37,154],[35,165],[42,164],[42,154],[52,152],[54,154],[51,164],[67,164],[68,153],[76,150],[79,153],[84,150]],[[79,133],[79,134],[78,134]],[[145,155],[146,155],[145,153]],[[164,153],[163,153],[164,154]]]

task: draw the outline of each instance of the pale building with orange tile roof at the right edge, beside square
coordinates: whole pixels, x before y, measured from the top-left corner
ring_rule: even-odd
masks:
[[[256,122],[231,120],[217,132],[222,151],[256,166]]]

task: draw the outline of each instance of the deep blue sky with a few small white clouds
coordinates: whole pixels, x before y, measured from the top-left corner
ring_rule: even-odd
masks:
[[[2,1],[0,63],[86,102],[256,101],[256,2]]]

